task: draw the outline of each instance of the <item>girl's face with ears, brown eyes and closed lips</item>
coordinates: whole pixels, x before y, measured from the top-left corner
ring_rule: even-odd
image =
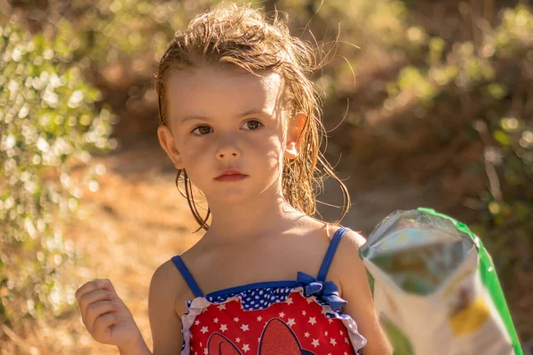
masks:
[[[276,73],[203,67],[171,73],[158,137],[208,201],[281,195],[283,157],[296,157],[305,117],[286,117]]]

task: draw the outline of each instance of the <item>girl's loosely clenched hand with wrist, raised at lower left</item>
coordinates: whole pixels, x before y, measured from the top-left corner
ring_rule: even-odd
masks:
[[[146,347],[139,327],[109,280],[92,280],[76,290],[76,301],[85,327],[99,343],[121,351],[137,352]]]

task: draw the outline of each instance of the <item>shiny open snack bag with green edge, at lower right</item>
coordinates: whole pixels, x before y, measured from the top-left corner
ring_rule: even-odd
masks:
[[[466,225],[396,211],[361,257],[395,355],[523,355],[492,259]]]

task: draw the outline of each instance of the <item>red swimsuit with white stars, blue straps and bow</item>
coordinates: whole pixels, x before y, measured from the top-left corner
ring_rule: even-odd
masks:
[[[260,282],[203,295],[179,256],[172,262],[195,299],[181,317],[183,347],[191,355],[360,354],[366,340],[332,281],[324,281],[338,242],[333,236],[317,278],[298,272],[297,280]]]

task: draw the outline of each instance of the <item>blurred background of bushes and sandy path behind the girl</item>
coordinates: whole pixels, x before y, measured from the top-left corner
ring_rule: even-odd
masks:
[[[151,345],[149,280],[200,233],[158,146],[158,60],[215,0],[0,0],[0,353],[111,354],[74,292],[113,280]],[[314,81],[368,235],[424,206],[470,225],[533,340],[533,14],[516,0],[267,0],[338,42]],[[341,194],[326,181],[322,217]]]

